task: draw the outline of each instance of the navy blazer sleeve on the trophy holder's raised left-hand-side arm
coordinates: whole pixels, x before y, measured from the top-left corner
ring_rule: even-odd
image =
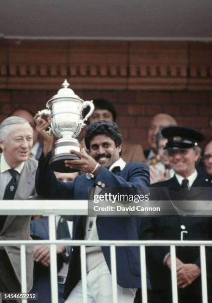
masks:
[[[46,157],[40,158],[36,171],[35,187],[37,193],[45,199],[60,199],[67,200],[73,198],[74,182],[58,181],[49,168],[49,160],[52,152],[49,152]]]

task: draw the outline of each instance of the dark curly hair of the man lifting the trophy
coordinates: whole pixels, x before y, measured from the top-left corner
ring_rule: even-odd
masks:
[[[115,122],[105,120],[95,121],[89,125],[85,132],[85,145],[89,151],[91,140],[98,135],[105,135],[109,137],[115,142],[116,147],[121,145],[123,141],[120,129]]]

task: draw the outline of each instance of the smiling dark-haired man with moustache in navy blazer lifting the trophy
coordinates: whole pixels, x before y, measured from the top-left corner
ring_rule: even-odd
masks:
[[[88,189],[95,192],[108,188],[149,187],[149,171],[142,163],[125,163],[121,158],[122,135],[112,121],[96,121],[85,134],[85,144],[90,151],[74,152],[80,160],[66,160],[66,166],[78,168],[85,175],[74,182],[56,180],[49,169],[52,139],[45,132],[48,124],[37,119],[37,130],[44,138],[44,156],[39,160],[36,188],[46,199],[88,200]],[[74,216],[74,240],[137,240],[141,219],[139,217],[87,217]],[[140,287],[139,249],[116,248],[118,302],[133,303],[136,289]],[[108,247],[86,249],[88,303],[112,302],[110,252]],[[73,248],[65,285],[66,303],[82,303],[80,251]]]

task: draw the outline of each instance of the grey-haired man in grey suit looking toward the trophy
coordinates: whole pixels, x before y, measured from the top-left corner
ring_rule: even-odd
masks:
[[[0,200],[25,200],[36,195],[37,161],[29,158],[32,144],[33,129],[25,119],[9,117],[0,124]],[[30,218],[0,216],[0,240],[30,239]],[[26,247],[26,266],[27,290],[30,291],[33,283],[32,247]],[[20,248],[0,246],[0,292],[20,292],[20,280]]]

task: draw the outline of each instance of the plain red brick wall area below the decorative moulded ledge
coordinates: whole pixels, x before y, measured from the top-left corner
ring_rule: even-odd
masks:
[[[0,122],[17,107],[34,113],[44,109],[56,94],[53,90],[1,90]],[[199,129],[211,138],[209,121],[212,118],[212,91],[120,91],[74,90],[83,100],[106,98],[117,110],[117,123],[127,140],[147,148],[147,130],[151,118],[165,112],[173,115],[179,125]]]

